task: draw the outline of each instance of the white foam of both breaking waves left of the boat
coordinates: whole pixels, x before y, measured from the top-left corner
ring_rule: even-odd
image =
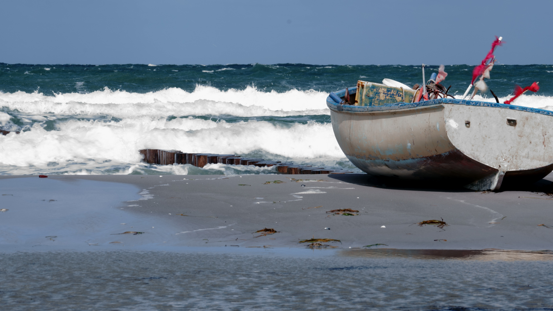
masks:
[[[83,86],[82,82],[77,85]],[[17,117],[28,124],[20,134],[0,136],[0,174],[239,173],[228,165],[209,165],[205,170],[190,165],[148,166],[140,162],[138,150],[143,148],[257,152],[296,163],[312,159],[335,164],[344,155],[334,139],[329,143],[330,123],[228,123],[217,117],[328,114],[326,96],[317,91],[262,92],[254,87],[220,91],[210,86],[197,86],[193,92],[166,89],[146,94],[108,89],[55,96],[0,93],[0,107],[10,112],[0,112],[0,123]],[[171,115],[189,117],[168,121]],[[196,115],[215,117],[192,117]],[[66,117],[69,120],[59,120]],[[46,130],[46,122],[55,122],[55,130]],[[247,173],[265,170],[248,168]]]

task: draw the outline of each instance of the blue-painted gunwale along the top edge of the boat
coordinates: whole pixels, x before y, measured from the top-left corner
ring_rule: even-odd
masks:
[[[357,87],[351,87],[348,88],[349,94],[355,94],[357,92]],[[334,92],[338,97],[343,97],[346,95],[346,89]],[[496,103],[496,102],[484,102],[484,101],[474,101],[474,100],[458,100],[458,99],[435,99],[435,100],[427,100],[427,101],[420,101],[420,102],[398,102],[394,103],[392,105],[383,105],[383,106],[353,106],[353,105],[341,105],[341,109],[338,108],[340,106],[340,103],[335,102],[330,95],[326,97],[326,105],[328,108],[331,108],[332,110],[336,111],[348,111],[348,112],[370,112],[370,111],[385,111],[385,110],[398,110],[398,109],[406,109],[406,108],[416,108],[416,107],[424,107],[424,106],[431,106],[431,105],[437,105],[440,103],[452,103],[455,105],[466,105],[466,106],[481,106],[481,107],[494,107],[494,108],[504,108],[504,109],[512,109],[512,110],[519,110],[519,111],[528,111],[528,112],[534,112],[534,113],[540,113],[541,115],[548,115],[553,116],[553,111],[550,110],[543,110],[538,108],[530,108],[530,107],[524,107],[524,106],[516,106],[516,105],[505,105],[504,103]]]

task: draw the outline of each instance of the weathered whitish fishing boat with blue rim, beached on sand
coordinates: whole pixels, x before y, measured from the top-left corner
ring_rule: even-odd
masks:
[[[358,81],[327,97],[338,144],[356,167],[493,191],[553,170],[553,111],[447,97],[415,101],[418,92]]]

